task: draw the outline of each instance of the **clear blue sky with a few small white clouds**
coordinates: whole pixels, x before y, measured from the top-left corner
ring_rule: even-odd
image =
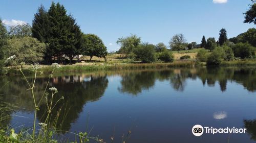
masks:
[[[5,25],[32,24],[34,14],[42,4],[49,9],[52,1],[0,2],[0,17]],[[201,43],[202,36],[218,39],[222,28],[228,38],[256,26],[243,23],[250,0],[84,0],[53,1],[62,4],[72,14],[83,33],[98,35],[116,51],[120,37],[136,34],[142,42],[168,42],[183,33],[187,42]]]

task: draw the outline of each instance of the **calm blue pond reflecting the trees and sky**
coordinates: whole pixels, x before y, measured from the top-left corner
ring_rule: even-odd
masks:
[[[47,75],[38,77],[37,102],[47,82]],[[15,130],[32,127],[33,98],[25,80],[8,76],[2,78],[0,87],[4,84],[0,100],[13,105],[14,110],[10,111],[12,119],[1,126],[10,125]],[[65,98],[56,104],[51,117],[61,134],[59,140],[74,139],[69,132],[87,131],[106,142],[111,142],[111,137],[114,142],[126,138],[127,142],[256,141],[256,67],[67,73],[54,76],[49,87],[58,89],[54,102]],[[38,123],[44,122],[46,108],[43,98]],[[246,128],[247,132],[197,137],[191,132],[196,124]]]

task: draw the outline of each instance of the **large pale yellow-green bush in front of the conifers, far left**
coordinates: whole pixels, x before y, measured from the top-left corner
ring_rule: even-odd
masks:
[[[20,37],[8,39],[4,46],[6,58],[16,55],[17,62],[37,63],[44,57],[46,44],[39,42],[36,38]]]

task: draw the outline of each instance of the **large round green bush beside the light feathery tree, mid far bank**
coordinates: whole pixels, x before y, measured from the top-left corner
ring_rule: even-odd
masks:
[[[152,44],[143,43],[138,45],[137,48],[134,50],[134,54],[143,62],[156,61],[155,46]]]

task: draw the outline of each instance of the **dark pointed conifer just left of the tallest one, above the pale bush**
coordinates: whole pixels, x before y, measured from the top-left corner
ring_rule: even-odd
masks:
[[[32,36],[40,42],[48,42],[49,16],[44,6],[40,6],[34,14],[32,22]]]

